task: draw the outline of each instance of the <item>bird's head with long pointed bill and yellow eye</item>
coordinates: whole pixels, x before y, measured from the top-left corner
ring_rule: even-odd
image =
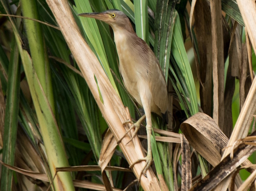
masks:
[[[104,21],[110,25],[113,29],[131,25],[129,18],[122,12],[116,9],[110,9],[104,12],[95,13],[81,13],[79,16],[95,18]]]

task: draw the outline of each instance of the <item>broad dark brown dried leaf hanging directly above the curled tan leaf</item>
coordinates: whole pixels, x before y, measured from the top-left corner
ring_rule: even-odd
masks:
[[[212,115],[212,26],[208,2],[197,0],[195,32],[200,61],[200,101],[205,114]]]

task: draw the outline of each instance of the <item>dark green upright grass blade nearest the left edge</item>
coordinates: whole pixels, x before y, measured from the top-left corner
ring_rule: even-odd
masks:
[[[20,56],[15,40],[12,40],[11,60],[8,72],[6,111],[3,135],[3,162],[14,165],[18,127],[20,94]],[[1,190],[12,190],[12,170],[2,166]]]

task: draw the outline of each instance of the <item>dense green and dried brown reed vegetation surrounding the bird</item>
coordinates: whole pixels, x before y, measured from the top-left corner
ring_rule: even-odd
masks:
[[[141,167],[128,168],[143,155],[138,138],[116,140],[143,111],[122,83],[112,29],[77,16],[107,9],[154,50],[169,92],[139,187]],[[0,13],[1,190],[255,190],[254,1],[0,0]]]

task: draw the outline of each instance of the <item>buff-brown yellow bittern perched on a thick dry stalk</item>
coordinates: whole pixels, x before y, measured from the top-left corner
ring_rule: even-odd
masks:
[[[130,128],[135,128],[132,138],[136,135],[140,128],[140,123],[146,116],[148,153],[145,158],[138,159],[138,161],[130,166],[132,168],[134,164],[143,160],[146,161],[144,170],[140,174],[141,176],[142,173],[146,173],[152,163],[150,142],[150,135],[152,133],[151,112],[162,116],[162,114],[166,114],[168,108],[167,87],[164,74],[155,54],[149,48],[148,44],[137,36],[129,18],[122,11],[112,9],[100,13],[82,13],[79,16],[104,21],[113,29],[116,50],[119,57],[119,70],[124,85],[137,103],[143,107],[145,112],[145,115]]]

